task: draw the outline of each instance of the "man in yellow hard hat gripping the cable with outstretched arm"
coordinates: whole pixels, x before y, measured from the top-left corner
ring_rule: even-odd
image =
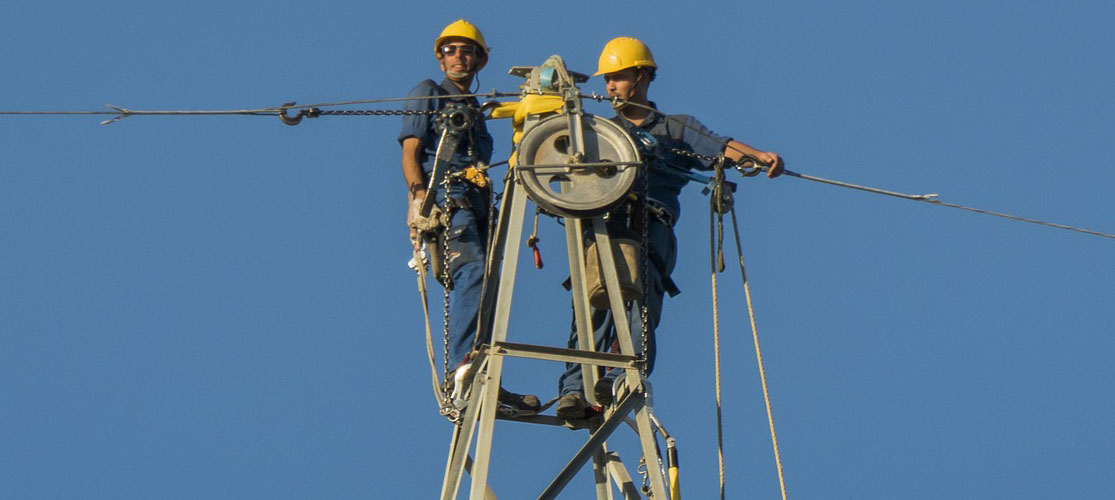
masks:
[[[636,137],[653,137],[657,147],[642,151],[648,162],[649,175],[647,189],[636,183],[638,201],[617,209],[610,224],[624,225],[634,234],[641,235],[646,227],[648,246],[648,262],[646,266],[644,297],[647,306],[647,345],[641,346],[642,318],[638,305],[629,305],[629,325],[636,349],[646,349],[646,375],[655,368],[655,328],[662,314],[665,294],[677,295],[677,287],[670,280],[670,272],[677,259],[677,238],[673,224],[681,214],[678,196],[681,189],[689,182],[683,174],[691,170],[710,170],[709,162],[679,154],[678,150],[697,153],[705,156],[716,156],[720,153],[733,161],[740,160],[744,154],[754,156],[767,165],[768,177],[776,177],[783,172],[783,162],[777,154],[755,150],[738,141],[717,135],[701,125],[692,116],[663,115],[655,103],[649,100],[650,83],[655,80],[658,64],[650,48],[642,41],[630,38],[614,38],[604,46],[600,54],[598,71],[593,76],[603,75],[608,95],[619,98],[614,105],[615,117],[612,121]],[[643,213],[647,220],[643,219]],[[595,348],[611,350],[615,343],[615,327],[610,310],[591,311],[594,330]],[[576,348],[576,333],[570,335],[570,348]],[[593,387],[593,396],[598,404],[609,405],[613,402],[613,383],[619,371],[612,371],[598,379]],[[582,419],[586,411],[584,382],[581,377],[580,364],[566,364],[565,373],[559,379],[561,398],[558,401],[558,416],[563,419]]]

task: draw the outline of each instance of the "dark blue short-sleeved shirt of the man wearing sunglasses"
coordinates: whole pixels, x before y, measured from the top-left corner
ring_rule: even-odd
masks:
[[[404,109],[409,110],[434,110],[442,109],[448,102],[464,103],[479,108],[476,97],[459,97],[460,90],[448,78],[437,85],[434,80],[419,83],[407,94],[407,97],[430,97],[445,96],[432,99],[407,100]],[[456,97],[455,97],[456,96]],[[407,137],[418,137],[421,141],[421,153],[419,163],[424,171],[429,173],[434,170],[434,158],[437,156],[437,144],[442,141],[442,134],[434,124],[436,116],[430,115],[404,115],[403,131],[399,132],[399,144]],[[488,134],[487,126],[483,119],[477,119],[469,132],[462,134],[460,143],[456,154],[449,161],[452,170],[464,169],[476,162],[492,162],[492,134]],[[473,155],[468,155],[469,145],[473,147]]]

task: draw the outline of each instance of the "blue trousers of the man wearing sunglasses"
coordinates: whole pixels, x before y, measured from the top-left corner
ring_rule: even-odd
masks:
[[[487,192],[469,183],[449,185],[449,228],[438,238],[447,238],[446,261],[449,263],[449,369],[465,362],[473,345],[485,344],[492,331],[476,331],[481,296],[484,286],[484,263],[487,259],[488,210]],[[437,202],[445,206],[445,190],[437,191]],[[434,270],[436,275],[440,269]]]

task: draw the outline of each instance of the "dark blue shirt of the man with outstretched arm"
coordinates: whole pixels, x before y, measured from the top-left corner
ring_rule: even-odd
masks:
[[[655,103],[649,103],[656,109]],[[640,151],[644,158],[650,158],[650,180],[648,182],[649,193],[647,198],[660,203],[673,215],[677,221],[681,217],[681,203],[678,196],[681,189],[689,183],[689,179],[681,175],[673,175],[672,171],[711,170],[711,162],[698,160],[691,156],[682,156],[670,150],[681,150],[697,153],[705,156],[716,156],[724,152],[725,144],[731,141],[730,137],[717,135],[705,127],[697,118],[689,115],[663,115],[657,110],[647,115],[642,125],[636,125],[622,116],[612,117],[612,122],[624,129],[641,128],[658,141],[658,151],[648,155],[648,152]],[[638,143],[638,141],[636,141]],[[640,150],[642,145],[640,144]],[[636,182],[636,191],[641,192],[642,185]]]

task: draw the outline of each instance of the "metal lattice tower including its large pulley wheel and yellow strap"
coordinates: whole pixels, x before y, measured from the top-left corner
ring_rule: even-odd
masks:
[[[619,268],[628,273],[641,275],[647,265],[647,252],[634,250],[626,258],[621,254],[620,238],[609,233],[605,214],[613,211],[632,192],[638,180],[646,182],[646,170],[636,140],[622,127],[610,121],[585,114],[581,108],[581,94],[576,84],[586,76],[565,68],[560,56],[551,56],[541,66],[512,68],[512,75],[525,79],[517,103],[503,103],[493,109],[492,117],[513,117],[516,147],[508,164],[514,175],[505,177],[498,221],[488,248],[488,275],[481,299],[478,331],[491,330],[491,342],[476,346],[471,356],[472,366],[466,379],[460,381],[460,393],[466,401],[459,415],[453,420],[454,429],[449,456],[442,488],[442,500],[457,498],[464,473],[472,477],[468,498],[495,498],[487,483],[492,464],[492,441],[495,421],[514,420],[522,423],[545,424],[569,429],[586,429],[588,442],[574,454],[551,483],[537,497],[553,499],[574,475],[592,462],[595,493],[599,500],[615,498],[618,489],[624,499],[653,498],[678,500],[676,461],[662,456],[656,436],[657,423],[651,407],[650,384],[642,376],[642,344],[634,344],[628,320],[628,304],[642,308],[638,297],[623,289]],[[452,133],[443,132],[443,137]],[[444,142],[444,141],[443,141]],[[439,148],[444,146],[439,145]],[[438,156],[442,156],[440,152]],[[436,188],[436,186],[435,186]],[[433,196],[427,196],[433,198]],[[574,311],[576,348],[513,344],[507,342],[512,314],[512,297],[523,244],[527,200],[542,210],[564,220],[569,256],[570,289]],[[646,217],[646,213],[643,214]],[[643,219],[646,220],[646,219]],[[617,234],[615,237],[630,234]],[[646,234],[642,234],[646,239]],[[637,246],[639,240],[631,240]],[[590,243],[594,256],[586,256]],[[594,349],[593,328],[586,272],[586,261],[594,260],[604,294],[594,304],[610,309],[614,318],[619,353],[600,353]],[[634,269],[631,269],[634,268]],[[637,271],[637,272],[630,272]],[[637,277],[632,279],[637,281]],[[638,309],[637,309],[638,310]],[[646,324],[646,320],[643,321]],[[541,329],[549,334],[564,330]],[[559,338],[563,338],[561,335]],[[582,367],[590,405],[600,406],[592,387],[599,378],[598,369],[618,371],[612,384],[613,404],[600,406],[599,413],[585,419],[565,420],[537,414],[508,415],[500,410],[498,392],[506,357],[521,357],[549,362],[576,363]],[[642,481],[632,480],[619,453],[610,450],[608,439],[628,422],[634,430],[641,464],[637,471]],[[660,431],[662,432],[662,431]],[[675,452],[673,440],[662,432],[667,449]],[[474,456],[471,456],[474,455]],[[667,474],[665,463],[671,465]],[[673,481],[667,482],[667,477]],[[672,493],[672,494],[671,494]]]

